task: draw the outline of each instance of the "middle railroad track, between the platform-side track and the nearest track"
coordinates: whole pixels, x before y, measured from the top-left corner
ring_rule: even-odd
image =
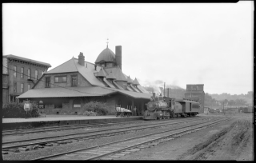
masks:
[[[135,130],[143,130],[143,129],[154,129],[154,128],[159,128],[165,125],[175,125],[175,124],[180,124],[184,122],[191,122],[191,121],[198,121],[198,120],[205,120],[208,118],[200,118],[200,119],[183,119],[180,121],[162,121],[158,122],[157,124],[143,124],[143,125],[136,125],[136,126],[129,126],[129,127],[118,127],[114,129],[101,129],[97,131],[89,131],[89,132],[84,132],[84,133],[72,133],[72,134],[66,134],[66,135],[58,135],[58,136],[53,136],[53,137],[38,137],[34,139],[26,139],[26,140],[18,140],[18,141],[6,141],[2,142],[2,150],[8,150],[10,151],[17,151],[18,149],[20,150],[28,150],[26,147],[31,147],[31,145],[38,146],[40,148],[40,145],[49,145],[52,146],[52,143],[57,143],[57,144],[67,144],[70,143],[70,141],[82,141],[82,140],[88,140],[88,139],[94,139],[94,138],[99,138],[99,137],[109,137],[113,135],[118,135],[118,134],[124,134],[124,133],[129,133]],[[78,137],[68,137],[68,136],[77,136],[78,134],[83,134],[82,136]],[[89,135],[88,135],[89,134]],[[65,137],[65,138],[59,138],[59,137]],[[52,138],[53,140],[48,140],[45,141],[46,139]],[[32,141],[32,142],[31,142]],[[20,144],[22,142],[27,142],[24,144]],[[18,145],[15,145],[14,143],[18,143]],[[13,144],[13,145],[11,145]],[[6,146],[9,145],[9,146]],[[24,148],[25,147],[25,148]],[[23,149],[22,149],[23,148]]]

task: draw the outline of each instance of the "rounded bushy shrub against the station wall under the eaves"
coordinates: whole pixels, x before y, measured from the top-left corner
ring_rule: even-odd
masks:
[[[106,103],[99,101],[90,101],[83,106],[84,112],[94,112],[97,115],[106,115],[108,113],[106,109]]]

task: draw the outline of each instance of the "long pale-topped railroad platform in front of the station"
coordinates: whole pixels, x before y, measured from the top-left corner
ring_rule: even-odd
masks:
[[[46,117],[2,118],[2,129],[26,129],[59,125],[79,125],[140,120],[142,116],[115,117],[84,115],[46,115]]]

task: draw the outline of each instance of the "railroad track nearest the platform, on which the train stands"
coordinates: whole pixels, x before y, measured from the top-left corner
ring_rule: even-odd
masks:
[[[190,117],[186,119],[199,118],[199,117]],[[173,121],[174,119],[166,119],[161,121]],[[106,127],[113,125],[126,125],[126,124],[136,124],[136,123],[146,123],[146,121],[118,121],[118,122],[106,122],[106,123],[95,123],[95,124],[80,124],[80,125],[62,125],[62,126],[51,126],[51,127],[42,127],[42,128],[33,128],[33,129],[12,129],[2,131],[2,137],[7,135],[18,135],[18,134],[28,134],[28,133],[42,133],[48,131],[60,131],[67,129],[83,129],[83,128],[92,128],[92,127]]]

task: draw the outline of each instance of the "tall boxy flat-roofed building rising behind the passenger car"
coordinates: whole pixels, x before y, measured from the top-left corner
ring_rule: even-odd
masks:
[[[203,90],[203,84],[186,85],[185,97],[198,101],[200,103],[200,111],[203,113],[205,106],[205,92]]]

